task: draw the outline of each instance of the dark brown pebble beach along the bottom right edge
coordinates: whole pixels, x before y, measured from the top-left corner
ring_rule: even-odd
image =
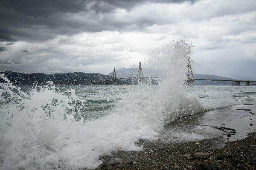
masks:
[[[225,142],[216,148],[214,139],[170,144],[138,152],[114,153],[105,157],[100,170],[255,170],[256,132],[247,138]],[[122,159],[116,159],[122,156]],[[108,160],[106,160],[108,159]]]

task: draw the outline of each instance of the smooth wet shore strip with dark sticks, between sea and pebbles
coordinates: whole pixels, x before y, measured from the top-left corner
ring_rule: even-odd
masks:
[[[166,125],[164,140],[177,142],[221,138],[240,140],[247,133],[256,131],[256,101],[204,111],[192,116],[182,117]],[[173,135],[176,134],[176,135]],[[179,135],[177,135],[179,134]]]

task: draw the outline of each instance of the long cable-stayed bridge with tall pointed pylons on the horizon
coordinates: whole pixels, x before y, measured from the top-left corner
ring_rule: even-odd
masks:
[[[205,80],[205,81],[222,81],[222,82],[232,82],[232,85],[240,85],[240,82],[245,82],[245,85],[252,85],[252,82],[256,82],[256,80],[237,80],[237,79],[231,79],[226,77],[219,77],[219,76],[213,76],[208,74],[193,74],[192,68],[190,65],[190,60],[188,59],[187,63],[187,81],[184,83],[186,85],[192,85],[192,82],[195,80]],[[139,65],[139,69],[137,72],[137,77],[123,77],[123,78],[117,78],[116,75],[116,68],[114,68],[113,71],[113,78],[109,80],[101,80],[100,74],[98,74],[98,82],[94,84],[100,84],[100,85],[116,85],[116,82],[120,79],[131,79],[132,81],[137,82],[137,84],[157,84],[154,82],[154,79],[160,79],[162,77],[143,77],[143,71],[141,67],[141,62]],[[153,83],[152,83],[153,82]]]

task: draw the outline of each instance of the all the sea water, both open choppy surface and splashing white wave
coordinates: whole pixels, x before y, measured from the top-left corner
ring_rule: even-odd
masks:
[[[256,86],[183,85],[190,48],[180,40],[153,55],[166,63],[159,85],[12,85],[0,75],[0,169],[94,169],[102,156],[143,150],[136,142],[157,141],[172,120],[256,99]]]

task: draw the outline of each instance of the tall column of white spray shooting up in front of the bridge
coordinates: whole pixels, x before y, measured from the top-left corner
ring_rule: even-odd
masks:
[[[192,42],[179,39],[153,51],[149,64],[162,71],[163,82],[156,92],[156,100],[161,100],[165,122],[206,110],[195,94],[184,90],[188,75],[188,62],[192,56]]]

